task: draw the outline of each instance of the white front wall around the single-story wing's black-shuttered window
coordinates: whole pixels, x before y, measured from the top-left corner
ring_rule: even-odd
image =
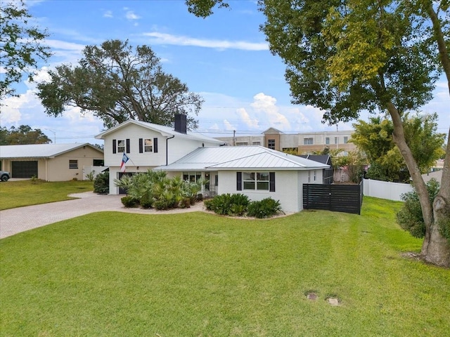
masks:
[[[300,186],[298,183],[297,171],[276,171],[275,172],[275,191],[238,191],[236,189],[236,171],[219,171],[219,186],[217,186],[217,194],[224,193],[242,193],[247,195],[251,200],[262,200],[271,197],[279,200],[283,211],[298,212],[302,210],[303,201],[299,198],[302,190],[296,188]]]

